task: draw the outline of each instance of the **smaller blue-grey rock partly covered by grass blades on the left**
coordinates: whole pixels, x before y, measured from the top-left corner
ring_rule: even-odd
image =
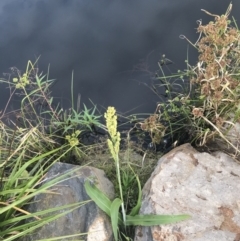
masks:
[[[76,166],[66,163],[56,163],[47,173],[46,178],[56,177]],[[84,181],[89,177],[97,179],[98,188],[110,198],[114,198],[112,183],[105,177],[104,172],[93,167],[82,167],[71,174],[71,178],[53,186],[51,190],[58,194],[40,194],[35,196],[28,211],[37,212],[66,204],[89,200],[84,189]],[[61,213],[55,212],[55,214]],[[23,241],[48,239],[65,235],[87,233],[86,236],[63,238],[60,240],[87,240],[87,241],[110,241],[113,240],[111,223],[94,202],[89,202],[82,207],[58,218],[55,221],[39,228],[35,233],[24,237]]]

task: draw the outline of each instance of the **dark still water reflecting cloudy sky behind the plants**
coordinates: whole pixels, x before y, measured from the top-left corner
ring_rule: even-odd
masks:
[[[39,68],[56,79],[53,95],[70,106],[74,70],[75,96],[82,102],[126,112],[152,112],[157,97],[145,86],[162,54],[172,71],[183,69],[187,42],[195,42],[197,23],[211,18],[201,9],[225,13],[229,0],[1,0],[0,73],[9,67],[25,70],[28,60],[41,55]],[[233,0],[238,19],[240,1]],[[191,48],[190,48],[191,49]],[[189,53],[191,63],[196,53]],[[0,107],[9,93],[0,86]]]

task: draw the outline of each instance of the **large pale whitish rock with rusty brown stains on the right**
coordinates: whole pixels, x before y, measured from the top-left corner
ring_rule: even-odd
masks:
[[[135,241],[239,241],[240,165],[222,152],[179,146],[143,188],[141,214],[190,214],[172,225],[137,227]]]

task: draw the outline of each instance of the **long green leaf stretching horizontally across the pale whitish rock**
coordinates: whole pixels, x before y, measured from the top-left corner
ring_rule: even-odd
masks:
[[[187,214],[182,215],[135,215],[126,216],[126,225],[140,225],[140,226],[153,226],[160,224],[170,224],[189,219],[191,216]]]

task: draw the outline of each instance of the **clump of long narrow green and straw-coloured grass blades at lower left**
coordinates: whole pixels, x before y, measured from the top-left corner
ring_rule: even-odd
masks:
[[[45,174],[51,165],[72,150],[73,144],[66,143],[47,151],[46,142],[53,147],[54,142],[48,137],[41,139],[43,135],[36,127],[12,130],[2,121],[0,135],[0,240],[19,240],[20,237],[87,203],[74,203],[29,213],[26,205],[34,196],[51,193],[49,189],[53,185],[67,178],[69,173],[47,181]],[[54,215],[54,212],[64,208],[67,211]],[[26,222],[30,218],[32,222]]]

